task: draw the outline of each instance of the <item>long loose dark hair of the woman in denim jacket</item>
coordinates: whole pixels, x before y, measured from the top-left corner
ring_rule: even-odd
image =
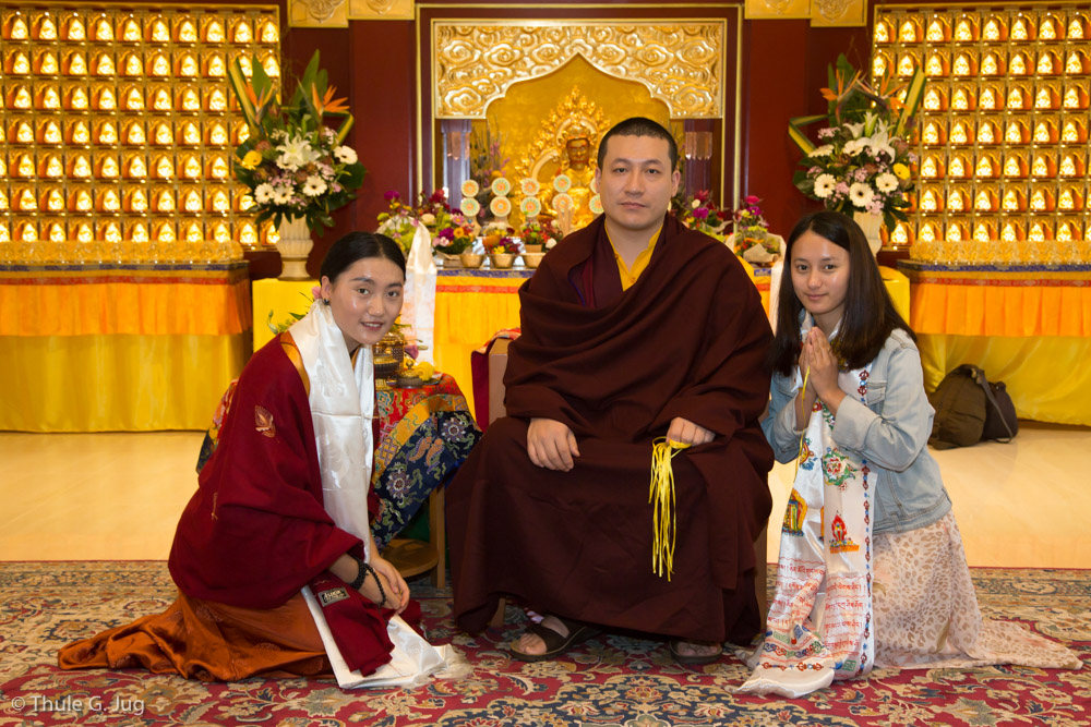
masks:
[[[772,369],[789,376],[799,363],[803,348],[800,339],[800,313],[803,304],[792,283],[792,247],[804,232],[814,232],[849,252],[849,287],[844,296],[844,317],[837,334],[837,352],[849,368],[867,365],[878,355],[890,334],[901,328],[915,341],[909,324],[894,307],[883,284],[878,265],[867,246],[867,238],[855,220],[841,213],[820,211],[807,215],[788,238],[784,272],[780,277],[777,303],[777,336],[769,349]]]

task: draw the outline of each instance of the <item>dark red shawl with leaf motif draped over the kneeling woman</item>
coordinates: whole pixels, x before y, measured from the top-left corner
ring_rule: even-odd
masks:
[[[298,356],[295,343],[272,343],[239,377],[170,549],[170,574],[188,595],[249,608],[279,606],[360,544],[322,504],[307,389],[289,358]]]

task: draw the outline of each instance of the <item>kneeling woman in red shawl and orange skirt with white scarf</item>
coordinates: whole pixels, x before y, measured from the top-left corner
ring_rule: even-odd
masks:
[[[368,523],[371,346],[397,318],[404,284],[389,238],[334,243],[321,299],[239,378],[175,534],[178,599],[69,644],[61,668],[224,681],[333,671],[352,687],[410,683],[444,666],[447,654],[398,616],[409,615],[409,589]]]

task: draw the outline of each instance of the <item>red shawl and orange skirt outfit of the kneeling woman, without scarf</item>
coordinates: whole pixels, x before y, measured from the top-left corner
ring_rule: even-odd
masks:
[[[323,507],[307,386],[290,334],[254,353],[175,533],[169,567],[178,601],[69,644],[62,668],[143,666],[219,680],[328,673],[300,594],[308,584],[349,668],[371,674],[391,661],[393,611],[326,570],[341,554],[362,557],[363,544]],[[341,589],[343,597],[321,595]]]

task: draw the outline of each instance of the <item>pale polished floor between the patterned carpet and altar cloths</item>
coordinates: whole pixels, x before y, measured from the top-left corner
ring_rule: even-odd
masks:
[[[0,560],[165,559],[202,436],[0,433]],[[1091,428],[1033,422],[1010,445],[933,452],[971,566],[1091,568],[1080,452],[1091,452]],[[791,481],[780,465],[769,481],[774,562]]]

